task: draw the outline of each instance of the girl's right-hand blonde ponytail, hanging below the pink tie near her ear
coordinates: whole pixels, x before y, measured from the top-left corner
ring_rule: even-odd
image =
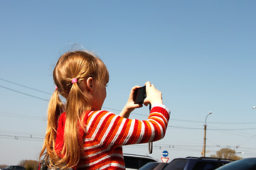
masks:
[[[86,100],[78,84],[74,83],[70,89],[66,103],[63,147],[63,162],[65,162],[65,167],[76,166],[80,160],[82,140],[78,137],[78,125],[85,131],[85,125],[80,120],[82,112],[90,110],[90,108],[85,108]]]

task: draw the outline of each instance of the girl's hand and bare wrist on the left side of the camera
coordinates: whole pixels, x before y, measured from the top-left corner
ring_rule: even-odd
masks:
[[[126,105],[124,106],[123,110],[119,114],[123,118],[129,118],[129,114],[134,111],[135,108],[141,108],[143,105],[142,104],[135,104],[133,97],[134,97],[134,91],[135,89],[140,88],[140,86],[134,86],[129,94],[128,101]]]

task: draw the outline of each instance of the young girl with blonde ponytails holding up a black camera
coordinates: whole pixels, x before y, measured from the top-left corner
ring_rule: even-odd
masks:
[[[60,169],[125,169],[122,145],[152,142],[164,137],[169,110],[161,92],[146,82],[144,105],[148,120],[128,119],[142,104],[133,101],[134,86],[120,115],[102,111],[107,67],[90,52],[67,52],[53,70],[56,90],[48,106],[48,126],[40,157]],[[59,95],[66,100],[60,101]]]

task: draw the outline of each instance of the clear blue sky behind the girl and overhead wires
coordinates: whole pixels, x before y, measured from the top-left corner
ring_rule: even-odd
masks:
[[[147,145],[125,153],[200,157],[212,111],[206,156],[229,147],[255,157],[255,7],[252,0],[0,1],[0,164],[38,159],[53,67],[75,44],[109,69],[103,109],[119,114],[132,86],[151,81],[171,110],[153,154]],[[148,114],[140,108],[130,118]]]

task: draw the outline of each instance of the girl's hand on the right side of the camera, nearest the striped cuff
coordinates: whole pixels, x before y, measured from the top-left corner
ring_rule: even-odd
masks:
[[[146,98],[144,100],[144,105],[148,104],[163,104],[161,91],[157,90],[153,84],[149,81],[146,82]]]

